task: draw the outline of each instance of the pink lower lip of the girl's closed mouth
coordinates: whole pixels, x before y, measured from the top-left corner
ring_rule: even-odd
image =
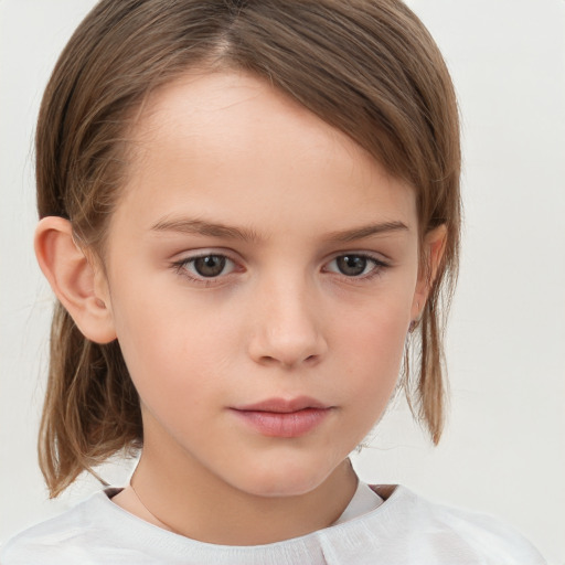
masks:
[[[300,437],[317,428],[330,408],[305,408],[297,412],[233,411],[252,428],[269,437]]]

